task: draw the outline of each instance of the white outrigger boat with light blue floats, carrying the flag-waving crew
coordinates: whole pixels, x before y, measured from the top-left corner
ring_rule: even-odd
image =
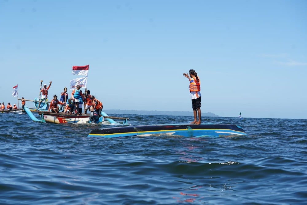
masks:
[[[25,112],[34,122],[46,122],[54,124],[66,124],[66,123],[77,123],[77,124],[109,124],[109,125],[118,125],[124,124],[127,125],[129,118],[126,117],[114,117],[108,116],[105,112],[101,111],[101,116],[98,116],[97,112],[91,112],[89,115],[76,116],[74,114],[67,114],[64,112],[54,113],[49,112],[48,110],[30,110],[28,107],[25,107]],[[37,119],[33,113],[38,113],[41,119]],[[122,123],[116,122],[116,120],[124,120]]]

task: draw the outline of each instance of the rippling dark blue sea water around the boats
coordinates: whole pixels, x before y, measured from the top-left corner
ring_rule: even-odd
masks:
[[[119,115],[132,125],[192,116]],[[0,204],[306,204],[307,120],[203,117],[247,136],[87,137],[0,114]]]

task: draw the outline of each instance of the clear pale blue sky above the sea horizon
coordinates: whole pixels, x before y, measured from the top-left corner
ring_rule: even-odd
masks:
[[[307,1],[0,0],[0,101],[49,99],[89,64],[105,109],[307,119]],[[69,93],[71,90],[69,90]],[[32,103],[27,102],[30,106]]]

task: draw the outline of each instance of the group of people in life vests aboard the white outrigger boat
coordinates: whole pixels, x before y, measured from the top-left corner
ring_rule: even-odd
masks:
[[[50,88],[52,81],[50,81],[49,86],[44,84],[44,87],[41,89],[42,97],[39,102],[38,107],[42,101],[48,99],[48,90]],[[59,113],[60,111],[69,114],[75,114],[77,116],[82,115],[82,107],[84,105],[84,113],[87,114],[87,110],[98,112],[99,116],[103,108],[101,101],[95,98],[94,95],[90,94],[89,90],[86,90],[85,93],[82,93],[80,85],[76,85],[76,89],[72,91],[70,98],[68,98],[67,88],[64,88],[64,91],[60,94],[60,100],[57,99],[57,95],[53,96],[53,99],[50,101],[50,106],[48,111]],[[60,105],[60,106],[58,106]]]

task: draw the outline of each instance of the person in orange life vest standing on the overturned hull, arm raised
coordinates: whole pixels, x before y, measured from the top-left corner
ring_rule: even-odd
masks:
[[[201,94],[200,94],[200,79],[197,77],[195,70],[191,69],[188,73],[183,73],[183,76],[187,77],[190,81],[190,93],[192,96],[192,109],[194,114],[193,124],[201,124]],[[198,121],[197,121],[198,113]]]

